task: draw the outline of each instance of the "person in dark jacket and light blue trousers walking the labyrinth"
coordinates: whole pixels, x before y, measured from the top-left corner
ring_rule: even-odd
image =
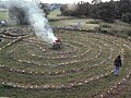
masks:
[[[118,56],[114,62],[114,65],[115,65],[115,71],[114,71],[114,75],[118,75],[119,74],[119,71],[120,71],[120,68],[121,68],[121,57]]]

